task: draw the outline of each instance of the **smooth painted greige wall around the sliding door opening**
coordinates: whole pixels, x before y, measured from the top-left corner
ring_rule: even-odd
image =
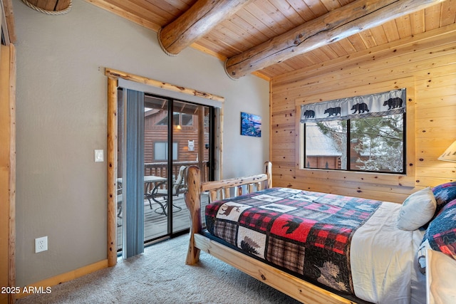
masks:
[[[106,258],[107,78],[115,68],[226,98],[224,177],[269,159],[269,83],[231,80],[192,48],[165,55],[156,33],[83,0],[61,16],[14,0],[17,51],[16,283],[36,283]],[[240,112],[261,115],[261,138],[239,135]],[[34,239],[48,236],[48,251]]]

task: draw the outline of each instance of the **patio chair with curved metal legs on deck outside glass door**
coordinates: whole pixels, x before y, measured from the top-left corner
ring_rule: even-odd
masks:
[[[184,193],[185,190],[187,189],[185,187],[185,171],[186,170],[187,170],[186,166],[181,166],[179,168],[179,173],[177,174],[175,181],[172,183],[172,197],[173,198],[179,197],[180,194]],[[164,182],[162,184],[166,184],[166,182]],[[161,184],[158,184],[156,187],[154,187],[152,192],[150,192],[150,196],[148,196],[147,199],[150,198],[153,201],[155,201],[157,204],[160,205],[160,207],[155,209],[155,212],[157,212],[157,214],[167,215],[166,209],[167,209],[167,202],[168,202],[168,189],[159,189],[160,185]],[[160,197],[162,198],[162,201],[159,200]],[[149,202],[150,202],[150,200],[149,200]],[[180,207],[180,206],[176,206],[175,204],[172,204],[172,206],[174,206],[175,209],[177,209],[176,212],[182,210],[182,207]],[[150,209],[152,209],[152,205],[150,206]]]

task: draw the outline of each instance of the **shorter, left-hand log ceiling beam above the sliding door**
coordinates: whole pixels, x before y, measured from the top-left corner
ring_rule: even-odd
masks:
[[[158,43],[168,55],[177,55],[249,1],[251,0],[199,0],[175,21],[158,31]]]

